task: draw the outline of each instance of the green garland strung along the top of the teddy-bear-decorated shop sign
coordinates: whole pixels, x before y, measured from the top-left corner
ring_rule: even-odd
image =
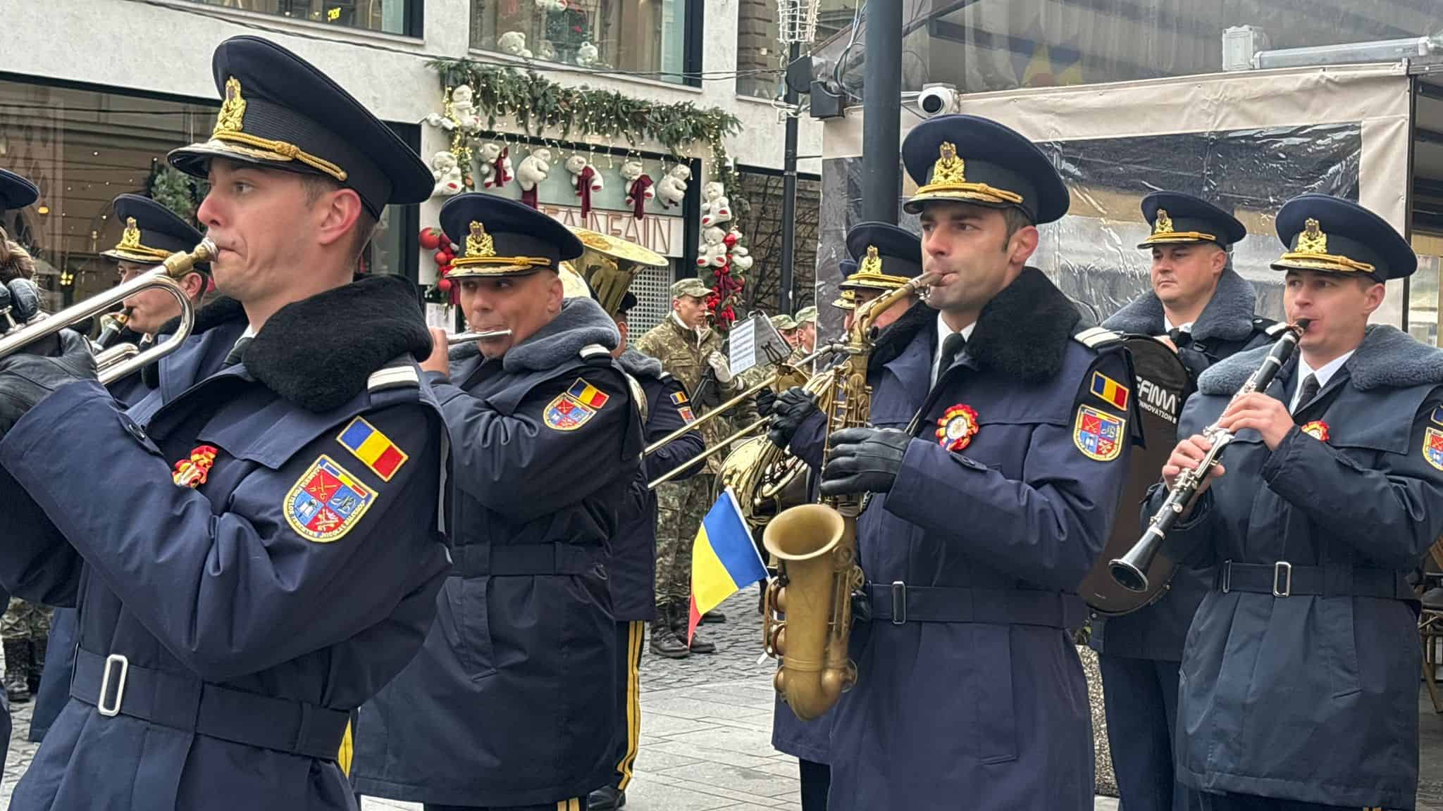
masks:
[[[739,189],[736,166],[726,150],[726,136],[742,131],[742,121],[720,107],[700,108],[690,101],[661,104],[587,85],[566,87],[534,72],[472,59],[433,59],[427,63],[442,79],[442,88],[470,85],[476,111],[486,118],[486,128],[511,117],[532,137],[558,130],[561,140],[599,136],[609,141],[625,140],[635,147],[657,141],[675,157],[694,143],[711,147],[711,179],[727,189]],[[737,215],[745,216],[745,199],[733,198]]]

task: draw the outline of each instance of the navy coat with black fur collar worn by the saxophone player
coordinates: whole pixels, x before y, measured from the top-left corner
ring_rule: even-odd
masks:
[[[1126,356],[1074,341],[1079,315],[1033,268],[984,309],[935,387],[935,325],[883,367],[872,421],[912,440],[889,494],[857,527],[873,622],[853,634],[857,685],[831,736],[835,811],[1092,807],[1087,683],[1068,628],[1076,587],[1102,548],[1124,479],[1121,447],[1089,459],[1081,408],[1127,443],[1133,418],[1088,394],[1094,372],[1130,385]],[[938,418],[975,410],[961,452]],[[932,612],[889,613],[889,586],[937,587]],[[926,621],[949,612],[971,621]],[[916,621],[922,619],[922,621]]]

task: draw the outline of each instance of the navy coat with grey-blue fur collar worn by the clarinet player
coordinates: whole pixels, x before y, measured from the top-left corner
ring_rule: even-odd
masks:
[[[1208,369],[1180,433],[1212,423],[1267,349]],[[1297,388],[1293,361],[1268,394]],[[1296,413],[1299,429],[1268,450],[1245,430],[1227,475],[1169,534],[1198,563],[1322,567],[1333,593],[1274,597],[1208,592],[1183,649],[1177,779],[1212,791],[1328,805],[1414,807],[1418,781],[1417,603],[1404,576],[1443,531],[1443,352],[1391,326],[1369,326],[1358,351]],[[1157,486],[1144,505],[1162,504]],[[1392,586],[1356,596],[1351,583]]]

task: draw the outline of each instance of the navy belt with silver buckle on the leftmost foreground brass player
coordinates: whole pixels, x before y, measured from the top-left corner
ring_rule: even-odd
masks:
[[[346,710],[260,696],[195,675],[130,664],[126,657],[75,652],[71,697],[107,717],[128,716],[180,732],[304,758],[335,760],[351,720]]]

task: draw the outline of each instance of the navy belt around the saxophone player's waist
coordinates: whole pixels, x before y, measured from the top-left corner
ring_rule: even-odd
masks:
[[[1026,589],[971,589],[867,583],[873,622],[983,622],[1081,628],[1087,606],[1076,595]]]

